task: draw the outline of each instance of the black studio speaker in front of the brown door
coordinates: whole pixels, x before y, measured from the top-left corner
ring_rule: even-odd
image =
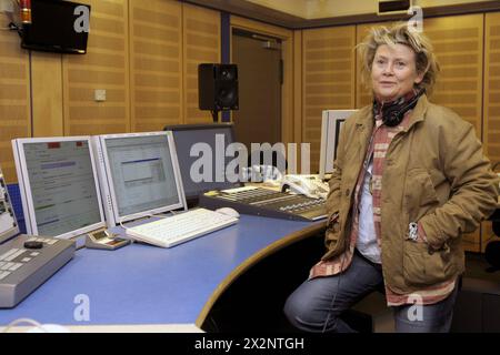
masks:
[[[200,110],[238,110],[238,67],[236,64],[198,65],[198,105]]]

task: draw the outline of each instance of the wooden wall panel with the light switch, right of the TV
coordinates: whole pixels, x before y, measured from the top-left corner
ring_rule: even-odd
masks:
[[[62,60],[64,134],[129,132],[128,1],[84,2],[91,6],[87,54]],[[94,101],[96,89],[106,89],[106,102]]]

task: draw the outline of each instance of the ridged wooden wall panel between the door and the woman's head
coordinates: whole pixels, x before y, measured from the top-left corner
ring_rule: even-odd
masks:
[[[321,112],[354,108],[356,27],[302,31],[302,142],[319,169]]]

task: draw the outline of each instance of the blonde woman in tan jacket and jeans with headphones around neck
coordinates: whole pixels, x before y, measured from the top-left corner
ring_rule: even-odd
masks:
[[[397,332],[448,332],[462,235],[497,204],[473,126],[427,99],[439,65],[421,33],[372,29],[360,45],[373,103],[342,129],[330,181],[328,252],[287,300],[297,328],[351,332],[339,315],[383,290]]]

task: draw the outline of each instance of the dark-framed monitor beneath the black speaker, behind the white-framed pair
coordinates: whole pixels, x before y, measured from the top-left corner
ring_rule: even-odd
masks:
[[[236,158],[226,156],[228,145],[234,143],[232,123],[167,125],[164,130],[173,133],[186,199],[190,203],[197,202],[198,196],[207,191],[242,185],[238,179],[239,171],[229,171],[227,174],[228,164]],[[212,151],[210,156],[211,174],[209,179],[202,179],[201,181],[191,174],[191,169],[199,173],[198,168],[200,166],[196,162],[202,155],[198,150],[193,150],[197,143],[201,143]],[[238,155],[238,153],[234,155]]]

